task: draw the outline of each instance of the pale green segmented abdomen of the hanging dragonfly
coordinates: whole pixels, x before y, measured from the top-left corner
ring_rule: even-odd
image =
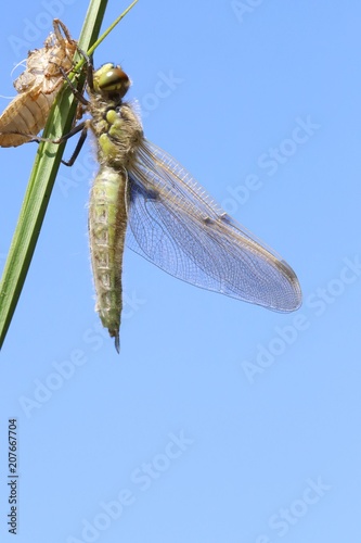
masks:
[[[127,228],[127,174],[112,166],[101,166],[91,190],[89,240],[102,324],[115,338],[119,351],[121,313],[121,262]]]

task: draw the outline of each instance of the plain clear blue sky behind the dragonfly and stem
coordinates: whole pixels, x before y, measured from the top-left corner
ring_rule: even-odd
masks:
[[[77,38],[87,1],[2,10],[1,94],[55,9]],[[241,303],[127,251],[117,355],[93,308],[87,143],[0,353],[2,542],[12,417],[17,543],[360,542],[360,17],[356,0],[140,0],[98,49],[147,138],[284,256],[304,305]],[[0,149],[1,268],[35,153]]]

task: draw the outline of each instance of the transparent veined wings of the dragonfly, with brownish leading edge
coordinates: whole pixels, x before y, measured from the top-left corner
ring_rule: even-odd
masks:
[[[128,247],[168,274],[274,311],[299,307],[300,287],[288,264],[146,140],[129,169],[128,213]]]

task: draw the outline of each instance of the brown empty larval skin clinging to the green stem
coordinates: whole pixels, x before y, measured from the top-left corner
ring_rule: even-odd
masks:
[[[29,51],[26,68],[14,81],[18,94],[0,115],[0,147],[21,146],[42,130],[64,74],[72,70],[77,42],[59,18],[53,27],[44,47]]]

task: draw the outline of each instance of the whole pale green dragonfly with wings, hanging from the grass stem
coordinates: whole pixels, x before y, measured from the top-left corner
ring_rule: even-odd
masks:
[[[145,139],[136,109],[124,97],[130,79],[121,66],[89,62],[87,134],[96,140],[99,171],[89,203],[89,241],[95,311],[119,352],[125,244],[168,274],[197,287],[279,312],[301,304],[296,274],[272,249],[228,215],[192,175]]]

